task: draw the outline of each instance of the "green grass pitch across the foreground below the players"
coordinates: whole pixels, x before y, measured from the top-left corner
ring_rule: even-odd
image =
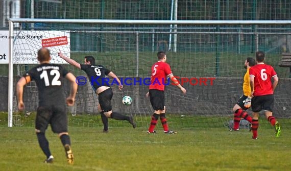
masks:
[[[44,164],[33,127],[0,126],[0,170],[288,170],[291,132],[275,137],[259,128],[257,140],[248,130],[175,129],[177,134],[147,134],[147,128],[69,127],[74,165],[66,163],[61,141],[50,127],[53,164]]]

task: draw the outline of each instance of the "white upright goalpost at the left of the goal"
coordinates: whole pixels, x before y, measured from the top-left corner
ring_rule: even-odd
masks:
[[[9,20],[8,127],[13,126],[13,22]]]

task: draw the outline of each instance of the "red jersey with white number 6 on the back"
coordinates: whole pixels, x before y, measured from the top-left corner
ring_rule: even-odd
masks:
[[[250,77],[255,77],[254,95],[273,94],[271,79],[277,76],[274,68],[264,63],[258,63],[250,68]]]

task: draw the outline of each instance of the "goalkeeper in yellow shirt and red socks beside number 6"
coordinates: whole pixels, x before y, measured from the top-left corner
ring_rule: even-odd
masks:
[[[250,86],[250,67],[254,66],[256,61],[254,58],[247,58],[245,61],[245,68],[247,72],[244,77],[243,91],[244,94],[240,97],[237,103],[234,105],[232,111],[233,114],[233,128],[230,131],[238,131],[239,130],[239,122],[240,118],[244,118],[252,123],[252,117],[246,112],[247,109],[251,107],[251,86]]]

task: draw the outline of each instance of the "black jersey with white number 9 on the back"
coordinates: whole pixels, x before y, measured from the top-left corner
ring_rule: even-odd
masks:
[[[106,67],[102,65],[85,65],[81,64],[81,69],[84,70],[88,76],[88,79],[94,89],[98,89],[101,86],[107,86],[110,87],[108,82],[102,80],[106,77],[106,75],[111,72],[111,70],[107,69]]]

